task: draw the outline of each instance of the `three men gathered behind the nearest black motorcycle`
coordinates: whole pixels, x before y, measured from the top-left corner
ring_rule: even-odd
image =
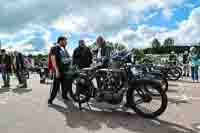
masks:
[[[51,62],[52,70],[55,76],[53,79],[53,87],[48,100],[48,104],[52,104],[60,85],[62,89],[62,97],[64,100],[69,100],[68,90],[72,88],[72,80],[67,77],[66,72],[69,70],[70,65],[76,65],[80,69],[90,67],[93,62],[93,54],[97,58],[109,57],[111,50],[106,45],[106,41],[102,36],[96,39],[97,49],[91,51],[85,44],[84,40],[79,41],[79,46],[74,50],[72,59],[65,49],[67,45],[66,37],[59,37],[56,46],[53,46],[49,52],[49,62]],[[97,79],[98,80],[98,79]]]

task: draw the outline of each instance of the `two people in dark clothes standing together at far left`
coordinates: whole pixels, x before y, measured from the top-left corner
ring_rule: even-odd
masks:
[[[26,63],[24,55],[20,52],[7,52],[5,49],[0,50],[0,70],[2,73],[2,88],[10,87],[10,76],[15,74],[19,84],[19,88],[27,88]]]

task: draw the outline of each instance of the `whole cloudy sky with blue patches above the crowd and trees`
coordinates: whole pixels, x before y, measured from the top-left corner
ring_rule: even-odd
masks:
[[[200,0],[1,0],[0,9],[2,47],[26,53],[47,52],[59,35],[71,50],[98,35],[129,48],[200,41]]]

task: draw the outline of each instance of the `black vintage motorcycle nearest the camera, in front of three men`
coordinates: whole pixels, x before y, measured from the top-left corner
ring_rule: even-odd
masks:
[[[112,105],[121,104],[126,97],[126,107],[130,107],[145,118],[160,116],[167,108],[168,98],[161,84],[155,80],[137,78],[130,62],[130,53],[117,58],[120,69],[102,68],[104,63],[80,70],[73,80],[70,90],[72,99],[88,103],[91,98]],[[116,61],[116,58],[109,60]],[[102,75],[103,74],[103,75]],[[97,87],[93,80],[97,81]]]

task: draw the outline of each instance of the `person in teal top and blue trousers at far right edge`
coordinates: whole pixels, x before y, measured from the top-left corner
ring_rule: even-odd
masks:
[[[191,50],[191,76],[193,82],[199,82],[199,54],[196,47],[192,47]]]

